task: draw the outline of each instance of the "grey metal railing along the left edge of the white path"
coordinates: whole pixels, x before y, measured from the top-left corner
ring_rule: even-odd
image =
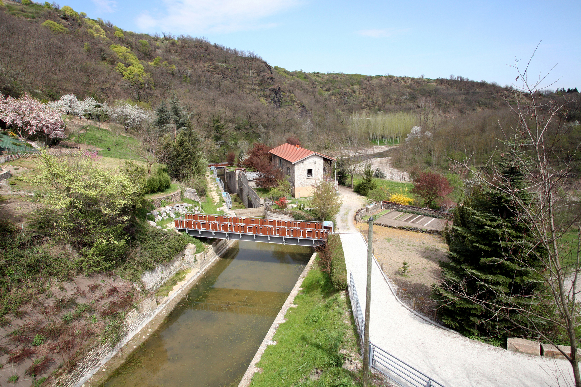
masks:
[[[357,296],[353,273],[349,273],[349,298],[353,310],[353,317],[357,323],[357,331],[360,337],[363,337],[365,327],[365,317],[361,312],[361,304]],[[369,343],[369,364],[381,372],[386,377],[392,379],[402,387],[444,387],[443,384],[436,382],[428,375],[410,366],[406,362],[397,359],[391,353],[379,348],[370,341]]]

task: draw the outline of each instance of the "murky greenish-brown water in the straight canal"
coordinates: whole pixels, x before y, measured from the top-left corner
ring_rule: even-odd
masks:
[[[240,241],[103,385],[238,385],[311,254]]]

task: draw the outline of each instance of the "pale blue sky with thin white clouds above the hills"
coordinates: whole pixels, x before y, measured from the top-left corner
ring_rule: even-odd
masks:
[[[64,0],[123,30],[249,50],[287,70],[581,90],[581,1]],[[554,82],[554,83],[553,83]]]

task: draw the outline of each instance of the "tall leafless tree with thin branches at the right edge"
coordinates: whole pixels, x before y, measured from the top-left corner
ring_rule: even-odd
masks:
[[[517,80],[521,79],[522,84],[514,85],[514,95],[510,101],[507,100],[507,104],[518,123],[502,128],[504,139],[501,140],[505,147],[501,156],[511,160],[512,166],[523,173],[525,187],[519,188],[505,177],[501,167],[492,161],[493,157],[479,168],[476,178],[481,184],[507,196],[518,221],[529,226],[532,244],[524,237],[522,240],[512,240],[525,251],[526,256],[512,256],[509,252],[503,261],[518,262],[522,270],[528,270],[536,277],[539,288],[533,294],[514,295],[479,281],[487,291],[496,294],[496,299],[485,301],[478,299],[478,294],[469,294],[462,283],[448,286],[447,290],[457,298],[469,299],[495,316],[510,320],[526,331],[529,337],[557,347],[571,363],[575,386],[581,387],[577,353],[581,316],[579,303],[575,299],[579,293],[577,280],[581,271],[581,244],[578,240],[574,249],[562,240],[579,220],[579,214],[573,212],[573,204],[568,200],[564,186],[579,166],[574,153],[580,149],[581,143],[576,144],[573,151],[560,150],[564,136],[571,129],[571,125],[564,125],[561,120],[570,101],[566,98],[557,100],[557,97],[547,100],[541,94],[542,89],[552,85],[544,85],[550,71],[529,80],[533,56],[525,68],[519,66],[518,60],[512,66],[517,71]],[[470,159],[467,157],[456,162],[468,169]],[[581,230],[578,236],[581,236]],[[529,263],[527,258],[530,256],[535,257],[537,266]],[[547,325],[566,332],[569,350],[559,347],[554,337],[547,334]]]

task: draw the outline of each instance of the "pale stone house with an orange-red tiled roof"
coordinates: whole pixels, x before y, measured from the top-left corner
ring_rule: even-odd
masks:
[[[269,151],[272,163],[282,169],[290,182],[292,196],[313,196],[313,186],[333,170],[334,158],[304,149],[299,145],[282,144]]]

